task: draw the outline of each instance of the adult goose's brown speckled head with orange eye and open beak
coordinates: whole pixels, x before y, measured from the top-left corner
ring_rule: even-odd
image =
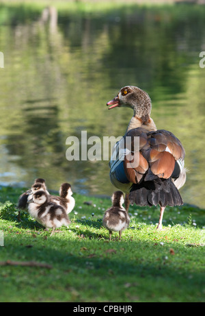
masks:
[[[124,86],[120,89],[118,95],[107,102],[109,110],[116,107],[132,108],[134,116],[142,122],[150,119],[152,109],[151,99],[145,91],[137,86]]]

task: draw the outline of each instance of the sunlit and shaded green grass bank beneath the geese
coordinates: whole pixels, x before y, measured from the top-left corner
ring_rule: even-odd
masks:
[[[1,302],[205,302],[204,210],[167,207],[158,232],[159,209],[131,206],[130,228],[109,242],[101,219],[110,199],[74,195],[69,229],[50,237],[26,212],[17,220],[21,192],[0,191],[0,262],[51,269],[1,265]]]

